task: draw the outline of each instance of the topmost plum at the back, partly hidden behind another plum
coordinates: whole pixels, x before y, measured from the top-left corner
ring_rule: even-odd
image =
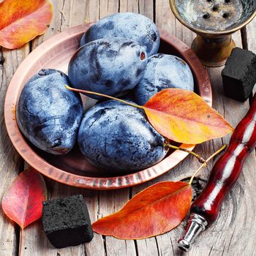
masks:
[[[120,12],[102,18],[83,34],[80,46],[101,38],[124,37],[146,47],[148,56],[158,52],[160,37],[157,26],[144,15]]]

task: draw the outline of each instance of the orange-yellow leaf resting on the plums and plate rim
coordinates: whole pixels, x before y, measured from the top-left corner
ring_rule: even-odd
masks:
[[[143,109],[154,129],[179,143],[203,143],[233,131],[216,110],[192,91],[165,89],[151,97]]]

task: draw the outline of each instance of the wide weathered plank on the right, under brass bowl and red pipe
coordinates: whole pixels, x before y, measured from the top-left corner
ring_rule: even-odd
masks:
[[[157,1],[156,8],[157,25],[190,45],[193,37],[192,32],[181,26],[173,17],[167,8],[167,1]],[[234,39],[236,44],[241,46],[240,32],[234,36]],[[243,104],[224,96],[221,70],[222,67],[208,68],[214,95],[214,108],[236,127],[238,121],[244,117],[248,110],[248,102]],[[203,143],[197,146],[195,151],[203,157],[207,157],[222,146],[222,143],[228,143],[229,138],[230,136],[227,136],[222,140]],[[191,176],[196,166],[198,166],[197,161],[188,157],[169,174],[157,178],[154,182],[168,179],[179,180]],[[206,180],[208,178],[211,166],[212,163],[208,165],[207,170],[200,173],[199,177],[201,179]],[[227,196],[219,219],[197,239],[188,255],[252,255],[252,248],[248,244],[252,244],[252,241],[255,240],[255,232],[251,231],[253,237],[243,236],[243,234],[249,233],[249,230],[255,229],[253,219],[256,202],[252,192],[252,187],[255,186],[255,178],[252,178],[250,174],[254,169],[252,166],[255,166],[255,156],[253,154],[246,160],[243,174],[232,192]],[[181,223],[176,230],[157,237],[160,255],[183,255],[178,251],[176,241],[184,233],[184,226],[184,223]]]

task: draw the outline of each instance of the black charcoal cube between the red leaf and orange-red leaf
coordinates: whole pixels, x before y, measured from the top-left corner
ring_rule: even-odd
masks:
[[[42,225],[53,246],[63,248],[91,241],[94,233],[82,195],[42,203]]]

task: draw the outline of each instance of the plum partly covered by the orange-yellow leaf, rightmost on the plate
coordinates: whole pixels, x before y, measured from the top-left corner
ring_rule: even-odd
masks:
[[[194,79],[189,65],[181,58],[158,53],[148,58],[143,78],[130,97],[139,105],[163,89],[178,88],[194,91]]]

